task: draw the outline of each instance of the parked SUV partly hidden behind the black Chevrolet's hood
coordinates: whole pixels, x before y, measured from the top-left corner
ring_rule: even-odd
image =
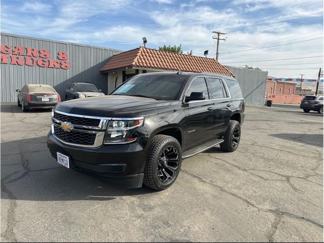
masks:
[[[97,87],[89,82],[75,82],[68,85],[65,90],[65,100],[86,98],[105,95]]]

